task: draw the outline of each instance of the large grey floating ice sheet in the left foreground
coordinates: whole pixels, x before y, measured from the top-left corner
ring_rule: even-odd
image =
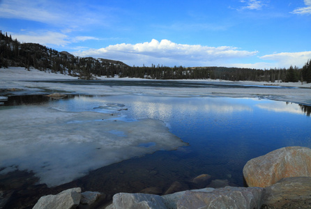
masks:
[[[162,121],[112,117],[36,106],[2,109],[0,168],[6,169],[0,173],[32,170],[52,187],[114,162],[186,145]]]

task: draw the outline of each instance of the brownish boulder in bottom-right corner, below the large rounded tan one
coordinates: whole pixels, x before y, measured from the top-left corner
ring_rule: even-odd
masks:
[[[266,208],[311,208],[311,178],[283,178],[264,188],[262,201]]]

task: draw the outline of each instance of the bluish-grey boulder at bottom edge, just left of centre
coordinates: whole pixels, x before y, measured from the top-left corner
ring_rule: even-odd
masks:
[[[107,209],[166,209],[161,196],[142,193],[118,193],[114,194],[112,205]]]

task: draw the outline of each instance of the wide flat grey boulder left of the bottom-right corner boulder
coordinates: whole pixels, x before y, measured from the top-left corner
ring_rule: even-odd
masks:
[[[261,208],[260,187],[224,187],[212,192],[186,191],[177,202],[177,208]]]

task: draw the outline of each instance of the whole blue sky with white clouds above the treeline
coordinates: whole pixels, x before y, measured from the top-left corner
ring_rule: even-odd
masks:
[[[0,0],[0,30],[128,65],[302,67],[311,0]]]

